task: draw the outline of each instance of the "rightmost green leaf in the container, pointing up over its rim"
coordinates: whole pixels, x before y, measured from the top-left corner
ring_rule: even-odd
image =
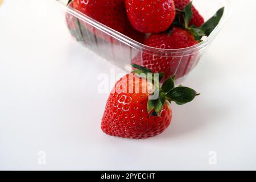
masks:
[[[204,32],[206,36],[209,36],[210,33],[214,30],[214,28],[218,25],[221,20],[221,17],[224,14],[224,8],[222,7],[216,13],[216,15],[212,16],[207,22],[205,22],[200,29]]]

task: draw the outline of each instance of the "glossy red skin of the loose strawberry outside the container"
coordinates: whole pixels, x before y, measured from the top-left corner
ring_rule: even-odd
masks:
[[[113,88],[106,103],[102,117],[101,129],[104,133],[115,137],[145,139],[162,133],[170,125],[172,110],[164,104],[160,117],[150,116],[147,113],[148,93],[119,93],[118,88],[127,84],[129,76],[119,80]],[[144,79],[135,82],[130,78],[133,89],[141,89]]]

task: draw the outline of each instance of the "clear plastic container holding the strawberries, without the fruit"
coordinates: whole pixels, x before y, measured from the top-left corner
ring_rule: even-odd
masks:
[[[208,20],[220,7],[225,6],[224,15],[212,34],[195,46],[181,49],[160,49],[148,47],[105,26],[67,6],[67,0],[57,1],[65,11],[68,28],[73,38],[117,67],[130,72],[131,63],[143,65],[145,57],[164,57],[168,67],[167,76],[176,75],[181,81],[199,62],[205,49],[210,45],[230,13],[229,0],[193,0],[193,5]],[[81,26],[82,25],[82,26]],[[77,28],[79,27],[79,28]],[[148,55],[148,56],[147,56]],[[145,61],[145,60],[144,60]]]

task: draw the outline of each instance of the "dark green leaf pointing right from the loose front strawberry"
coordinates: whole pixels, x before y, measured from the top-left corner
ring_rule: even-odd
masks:
[[[171,101],[176,102],[177,105],[187,104],[194,100],[196,96],[197,93],[195,90],[185,86],[176,87],[167,93],[167,97],[170,98]]]

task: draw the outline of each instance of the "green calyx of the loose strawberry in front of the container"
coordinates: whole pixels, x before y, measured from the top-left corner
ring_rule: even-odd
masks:
[[[151,75],[150,78],[155,86],[154,93],[158,93],[158,98],[154,98],[154,93],[148,98],[147,111],[150,115],[159,117],[166,101],[183,105],[194,100],[196,96],[199,96],[199,94],[191,88],[181,85],[175,87],[175,76],[168,78],[162,85],[160,85],[160,80],[164,77],[163,73],[160,73],[157,76],[152,73],[150,69],[141,67],[137,64],[132,64],[132,67],[136,68],[132,73],[137,73],[138,76],[142,73],[145,75]]]

